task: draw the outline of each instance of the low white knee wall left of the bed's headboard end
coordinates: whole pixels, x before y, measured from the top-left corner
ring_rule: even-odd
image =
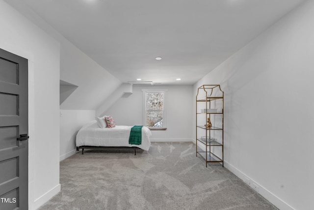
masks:
[[[76,153],[78,130],[91,120],[95,110],[60,110],[60,161]]]

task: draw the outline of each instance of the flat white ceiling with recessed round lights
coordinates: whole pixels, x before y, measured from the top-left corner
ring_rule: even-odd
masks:
[[[5,1],[46,21],[121,82],[186,85],[304,0]]]

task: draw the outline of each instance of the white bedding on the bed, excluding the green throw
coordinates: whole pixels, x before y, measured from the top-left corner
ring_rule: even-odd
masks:
[[[130,145],[129,137],[131,127],[126,125],[116,125],[113,128],[100,128],[96,120],[84,125],[77,134],[76,145],[96,146],[96,147],[138,147],[143,150],[149,150],[151,142],[149,137],[151,130],[146,126],[142,128],[142,144]]]

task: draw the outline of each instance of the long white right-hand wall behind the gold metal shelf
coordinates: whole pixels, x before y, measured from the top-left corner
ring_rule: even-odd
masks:
[[[309,0],[194,85],[222,85],[226,168],[282,210],[314,209],[313,26]]]

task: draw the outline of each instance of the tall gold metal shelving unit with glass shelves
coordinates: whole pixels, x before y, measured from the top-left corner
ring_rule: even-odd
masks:
[[[208,126],[208,118],[211,126]],[[224,167],[224,92],[220,85],[202,85],[196,95],[196,156]]]

